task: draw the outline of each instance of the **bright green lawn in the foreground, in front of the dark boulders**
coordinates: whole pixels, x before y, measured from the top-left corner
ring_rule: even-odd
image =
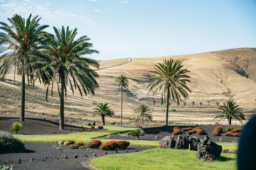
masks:
[[[229,169],[235,170],[235,154],[221,153],[215,161],[204,161],[196,158],[196,151],[183,149],[150,149],[127,154],[113,154],[91,161],[91,164],[102,170],[129,169],[137,170],[180,170],[180,169]]]

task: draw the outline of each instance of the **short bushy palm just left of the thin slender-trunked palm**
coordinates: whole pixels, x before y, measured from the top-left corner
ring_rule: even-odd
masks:
[[[105,126],[105,116],[110,116],[112,117],[112,115],[115,115],[114,112],[112,112],[112,109],[109,109],[110,106],[108,106],[108,103],[100,103],[97,105],[97,108],[93,108],[96,111],[94,111],[95,113],[93,114],[92,117],[99,115],[101,116],[101,120],[102,120],[102,126]]]

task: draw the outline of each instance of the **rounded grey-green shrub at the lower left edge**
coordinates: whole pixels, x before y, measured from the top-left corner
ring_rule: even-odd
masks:
[[[11,133],[0,131],[0,153],[22,152],[25,150],[23,142]]]

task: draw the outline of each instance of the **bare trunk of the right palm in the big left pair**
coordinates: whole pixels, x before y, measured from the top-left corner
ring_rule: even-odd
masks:
[[[60,129],[64,129],[64,76],[60,76]]]

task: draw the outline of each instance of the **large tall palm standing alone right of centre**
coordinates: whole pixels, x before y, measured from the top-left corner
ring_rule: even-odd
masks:
[[[148,79],[149,82],[152,81],[147,86],[147,88],[150,87],[149,91],[154,88],[153,94],[157,91],[162,91],[162,98],[163,95],[166,96],[166,103],[169,103],[171,96],[173,100],[177,99],[178,105],[179,102],[182,101],[181,96],[183,96],[185,100],[188,99],[187,91],[191,92],[191,90],[186,85],[186,82],[190,82],[190,80],[187,79],[190,77],[185,73],[189,71],[186,69],[182,70],[183,65],[181,62],[177,60],[174,63],[173,59],[165,59],[163,63],[158,63],[158,65],[155,66],[155,71],[150,72],[156,75]],[[166,105],[165,125],[168,125],[168,109],[169,106]]]

